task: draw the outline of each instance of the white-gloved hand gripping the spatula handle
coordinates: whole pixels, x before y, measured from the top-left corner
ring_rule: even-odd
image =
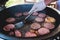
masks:
[[[34,3],[32,9],[29,11],[29,13],[32,12],[32,11],[34,11],[34,12],[42,11],[45,8],[46,8],[46,4],[45,4],[44,0],[40,0],[39,2]]]

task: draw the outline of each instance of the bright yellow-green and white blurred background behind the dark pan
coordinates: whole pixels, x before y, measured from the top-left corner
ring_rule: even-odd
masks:
[[[8,7],[11,7],[11,6],[14,6],[14,5],[19,5],[19,4],[31,4],[31,3],[35,3],[35,2],[38,2],[39,0],[9,0],[6,2],[5,6],[8,8]],[[55,7],[56,5],[56,1],[55,2],[52,2],[51,4],[49,4],[48,6],[50,7]]]

